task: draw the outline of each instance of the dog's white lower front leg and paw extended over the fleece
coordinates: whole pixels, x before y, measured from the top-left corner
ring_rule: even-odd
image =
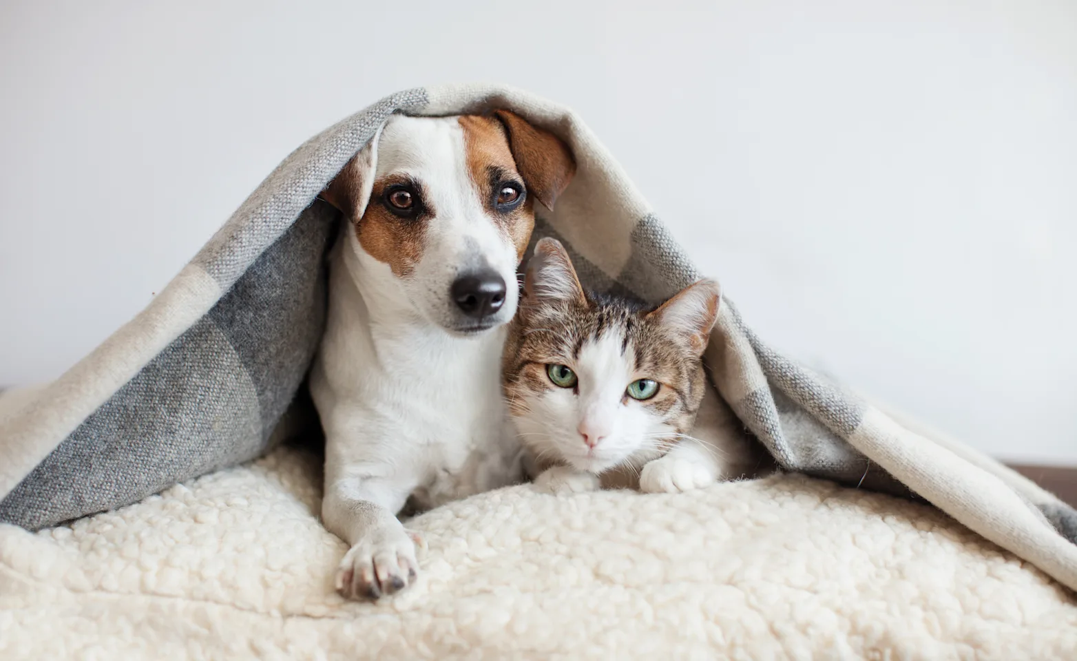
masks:
[[[378,599],[415,582],[415,542],[394,512],[410,489],[380,478],[346,478],[326,486],[322,520],[351,545],[337,567],[346,599]]]

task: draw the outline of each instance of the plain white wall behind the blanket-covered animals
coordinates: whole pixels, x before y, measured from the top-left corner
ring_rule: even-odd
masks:
[[[1077,4],[0,5],[0,383],[57,376],[381,96],[575,107],[764,337],[1077,463]],[[366,6],[364,6],[366,5]]]

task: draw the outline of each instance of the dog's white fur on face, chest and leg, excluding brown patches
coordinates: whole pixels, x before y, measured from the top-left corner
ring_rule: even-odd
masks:
[[[518,469],[500,386],[504,328],[453,330],[459,272],[486,265],[509,284],[499,324],[518,296],[516,249],[473,187],[463,130],[456,117],[394,116],[365,155],[376,178],[422,182],[436,215],[406,277],[363,250],[350,224],[331,256],[310,390],[326,435],[322,516],[352,546],[337,575],[349,594],[349,576],[411,580],[414,544],[394,516],[408,496],[435,506],[507,483]]]

